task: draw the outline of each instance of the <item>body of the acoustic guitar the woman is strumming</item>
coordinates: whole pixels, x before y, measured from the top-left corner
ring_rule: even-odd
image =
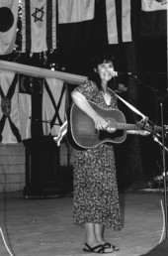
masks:
[[[123,112],[118,109],[103,109],[91,101],[89,103],[114,128],[110,131],[96,130],[93,120],[73,104],[68,113],[69,127],[67,133],[67,139],[71,146],[76,149],[89,149],[102,143],[124,142],[126,130],[116,128],[117,123],[126,123]]]

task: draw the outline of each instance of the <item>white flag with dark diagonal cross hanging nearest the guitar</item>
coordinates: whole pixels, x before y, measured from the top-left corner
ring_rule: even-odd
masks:
[[[57,136],[65,121],[66,85],[55,78],[45,78],[42,94],[43,135]]]

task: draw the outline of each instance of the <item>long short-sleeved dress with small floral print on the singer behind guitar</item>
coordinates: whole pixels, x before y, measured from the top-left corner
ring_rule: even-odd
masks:
[[[111,91],[107,105],[103,92],[96,84],[87,81],[76,90],[88,100],[104,109],[118,108],[117,97]],[[112,144],[101,144],[86,150],[73,150],[73,222],[81,226],[86,222],[121,228],[119,192],[116,164]]]

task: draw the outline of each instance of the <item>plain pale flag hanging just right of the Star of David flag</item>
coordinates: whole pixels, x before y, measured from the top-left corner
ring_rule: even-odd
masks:
[[[58,0],[58,23],[83,22],[94,19],[95,0]]]

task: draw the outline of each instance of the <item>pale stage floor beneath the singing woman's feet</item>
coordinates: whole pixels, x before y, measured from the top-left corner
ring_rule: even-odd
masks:
[[[124,227],[106,237],[120,247],[108,254],[139,256],[159,244],[163,214],[157,193],[120,194]],[[93,255],[82,251],[84,230],[72,223],[72,195],[25,198],[22,192],[0,194],[1,256]],[[10,254],[11,253],[11,254]],[[95,254],[94,254],[95,255]]]

